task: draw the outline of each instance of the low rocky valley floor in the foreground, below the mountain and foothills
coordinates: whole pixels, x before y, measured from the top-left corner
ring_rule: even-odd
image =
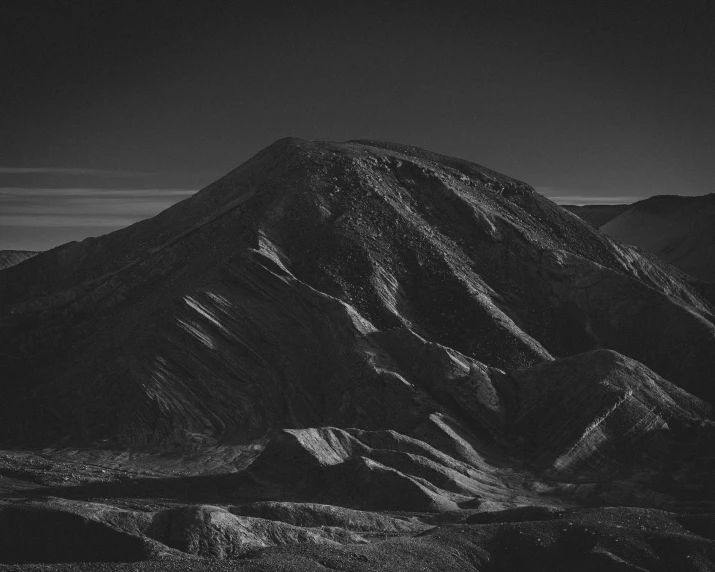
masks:
[[[256,501],[241,498],[229,467],[258,449],[219,447],[183,463],[166,453],[2,451],[0,570],[715,569],[712,502],[585,507],[548,491],[535,506],[407,513]]]

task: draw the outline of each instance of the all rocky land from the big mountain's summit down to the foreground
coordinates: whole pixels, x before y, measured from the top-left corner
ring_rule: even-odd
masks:
[[[0,563],[713,569],[714,304],[479,165],[280,140],[0,272]]]

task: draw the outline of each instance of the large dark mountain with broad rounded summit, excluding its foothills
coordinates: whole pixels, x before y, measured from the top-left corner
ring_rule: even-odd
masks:
[[[0,423],[37,444],[488,424],[418,359],[449,379],[455,360],[606,347],[715,398],[712,308],[687,277],[524,183],[382,142],[278,141],[153,219],[6,270],[0,304]]]

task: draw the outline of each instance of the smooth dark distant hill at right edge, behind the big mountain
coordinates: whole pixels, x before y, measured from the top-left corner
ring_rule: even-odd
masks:
[[[651,197],[634,203],[601,230],[691,276],[715,282],[715,193]]]

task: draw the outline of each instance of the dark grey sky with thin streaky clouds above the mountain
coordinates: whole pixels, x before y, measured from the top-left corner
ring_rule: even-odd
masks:
[[[715,191],[707,0],[0,4],[0,248],[150,216],[288,135],[561,202]]]

